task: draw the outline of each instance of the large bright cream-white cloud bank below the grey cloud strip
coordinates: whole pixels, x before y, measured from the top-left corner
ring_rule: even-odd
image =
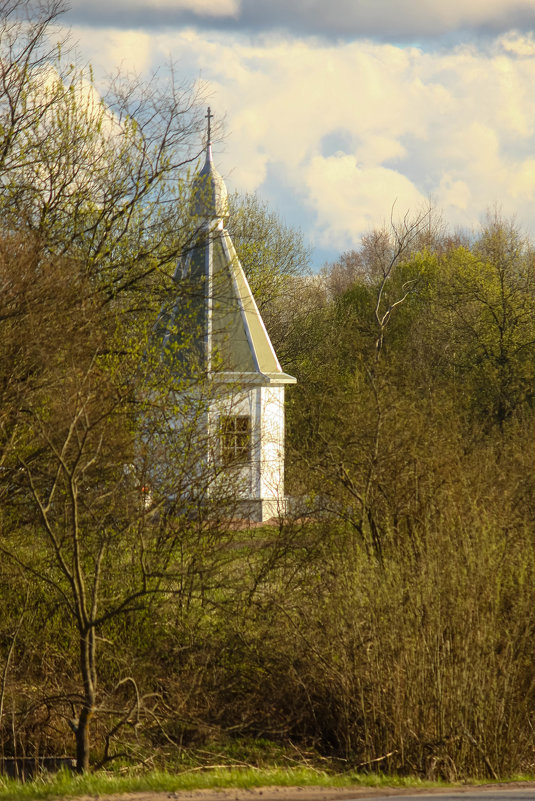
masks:
[[[356,246],[394,201],[416,210],[427,197],[452,225],[475,225],[497,202],[535,233],[531,36],[435,52],[369,41],[258,44],[192,28],[130,36],[104,32],[105,58],[154,67],[172,54],[200,76],[225,119],[215,153],[230,188],[268,191],[322,245]]]

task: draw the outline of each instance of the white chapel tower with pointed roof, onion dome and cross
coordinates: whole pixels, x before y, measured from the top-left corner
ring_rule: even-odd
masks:
[[[209,458],[220,480],[231,479],[237,513],[264,521],[284,512],[284,387],[281,369],[227,231],[227,190],[214,167],[208,109],[206,159],[192,187],[197,234],[182,254],[175,281],[182,292],[165,315],[164,345],[184,325],[184,286],[197,329],[192,343],[216,387],[206,415]]]

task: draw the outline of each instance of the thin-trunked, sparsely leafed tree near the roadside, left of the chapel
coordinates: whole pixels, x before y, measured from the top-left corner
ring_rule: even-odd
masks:
[[[47,703],[56,715],[72,705],[77,767],[85,771],[92,721],[113,707],[99,688],[101,642],[109,647],[113,636],[106,632],[149,602],[156,609],[157,599],[204,598],[223,580],[232,534],[221,519],[221,493],[208,488],[215,478],[203,462],[208,435],[199,422],[208,401],[200,389],[186,404],[176,365],[169,370],[158,354],[151,361],[150,343],[138,342],[129,355],[110,351],[122,336],[117,317],[72,262],[54,272],[50,313],[52,268],[43,259],[33,266],[34,295],[24,310],[19,297],[17,362],[38,380],[22,377],[26,391],[15,398],[22,406],[9,436],[6,428],[0,552],[46,588],[78,640],[79,681]],[[31,332],[40,326],[47,336],[36,341]],[[228,499],[228,482],[224,489]],[[135,681],[128,686],[137,697]],[[140,703],[124,700],[106,759],[114,756],[109,740],[141,714]]]

